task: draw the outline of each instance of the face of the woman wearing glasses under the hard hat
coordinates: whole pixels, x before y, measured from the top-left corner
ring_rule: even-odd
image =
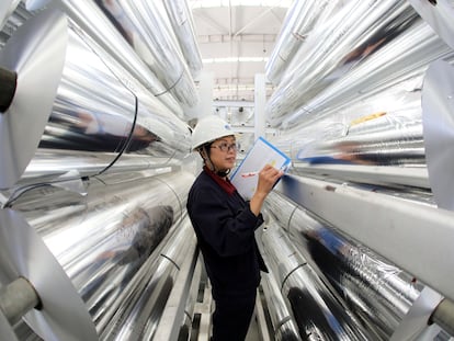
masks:
[[[209,159],[216,170],[232,169],[237,159],[237,145],[235,136],[226,136],[216,139],[211,145]]]

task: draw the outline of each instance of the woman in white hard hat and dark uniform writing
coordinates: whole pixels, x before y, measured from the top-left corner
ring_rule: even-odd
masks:
[[[254,230],[263,223],[263,202],[283,172],[265,166],[258,174],[253,196],[246,202],[227,177],[236,162],[235,135],[214,115],[201,118],[195,126],[193,150],[198,151],[204,164],[190,190],[186,207],[216,306],[212,340],[243,341],[260,271],[266,271]]]

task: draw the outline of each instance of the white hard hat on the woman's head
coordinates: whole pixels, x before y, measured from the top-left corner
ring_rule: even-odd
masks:
[[[201,118],[192,132],[192,150],[224,136],[235,135],[230,125],[216,115]]]

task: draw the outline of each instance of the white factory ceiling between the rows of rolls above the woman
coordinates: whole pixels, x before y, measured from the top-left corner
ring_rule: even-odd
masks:
[[[215,101],[252,102],[254,77],[265,73],[291,0],[189,0]],[[197,82],[197,79],[196,79]],[[266,95],[273,91],[266,84]]]

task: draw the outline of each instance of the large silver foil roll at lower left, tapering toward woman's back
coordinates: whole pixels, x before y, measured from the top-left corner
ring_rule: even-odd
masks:
[[[173,242],[170,236],[181,228],[193,175],[150,173],[91,178],[86,195],[42,185],[9,204],[44,240],[84,302],[99,333],[118,307],[130,305],[132,293],[126,295],[126,287],[143,281],[137,273],[163,254],[164,245]],[[184,255],[183,251],[168,258],[177,262]]]

